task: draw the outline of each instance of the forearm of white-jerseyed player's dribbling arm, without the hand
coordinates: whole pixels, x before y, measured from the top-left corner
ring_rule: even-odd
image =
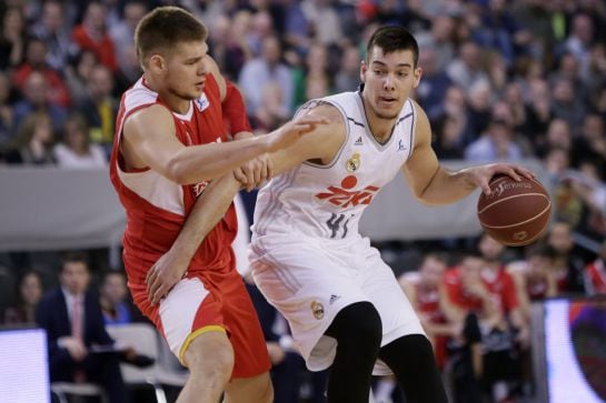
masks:
[[[424,203],[436,205],[456,202],[477,189],[468,175],[468,169],[451,172],[439,167],[419,199]]]

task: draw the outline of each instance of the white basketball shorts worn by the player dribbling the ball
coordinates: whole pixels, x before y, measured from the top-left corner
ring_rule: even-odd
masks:
[[[356,302],[371,302],[379,312],[381,346],[407,334],[425,334],[394,272],[367,238],[257,236],[249,258],[257,286],[288,320],[311,371],[332,364],[337,341],[324,333],[341,309]],[[372,373],[391,371],[378,360]]]

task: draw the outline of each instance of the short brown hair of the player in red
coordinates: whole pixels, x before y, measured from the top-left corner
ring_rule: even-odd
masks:
[[[179,7],[158,7],[146,14],[135,30],[135,46],[143,64],[152,52],[170,50],[181,42],[205,41],[206,27]]]

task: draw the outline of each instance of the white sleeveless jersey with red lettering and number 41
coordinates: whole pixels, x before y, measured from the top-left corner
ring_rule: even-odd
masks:
[[[411,100],[404,103],[385,144],[370,132],[360,92],[309,101],[300,110],[318,103],[340,111],[347,128],[345,142],[329,164],[306,161],[259,191],[254,239],[270,233],[334,240],[357,235],[364,210],[410,157],[417,118]]]

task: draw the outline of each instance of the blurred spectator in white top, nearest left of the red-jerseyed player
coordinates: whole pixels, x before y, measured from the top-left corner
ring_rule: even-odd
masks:
[[[107,160],[99,144],[90,143],[89,127],[81,114],[66,121],[63,139],[53,149],[57,165],[61,168],[103,168]]]

